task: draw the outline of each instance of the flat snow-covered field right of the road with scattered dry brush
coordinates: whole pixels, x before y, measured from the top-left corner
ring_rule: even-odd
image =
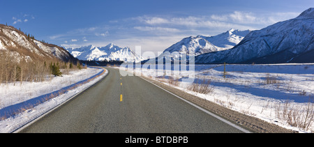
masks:
[[[226,65],[225,70],[224,65],[195,65],[195,72],[136,68],[135,73],[269,123],[314,132],[314,64]],[[188,90],[193,84],[182,82],[185,77],[194,84],[210,82],[211,91]]]

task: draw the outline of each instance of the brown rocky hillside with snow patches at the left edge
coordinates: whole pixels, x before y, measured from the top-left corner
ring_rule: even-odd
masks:
[[[0,24],[0,51],[10,52],[15,61],[76,60],[66,49],[40,42],[13,26]]]

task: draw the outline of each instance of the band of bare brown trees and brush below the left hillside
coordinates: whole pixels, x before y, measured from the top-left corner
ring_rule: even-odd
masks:
[[[0,84],[16,82],[43,82],[51,76],[61,76],[61,70],[81,69],[80,62],[66,63],[61,61],[15,61],[10,52],[0,51]]]

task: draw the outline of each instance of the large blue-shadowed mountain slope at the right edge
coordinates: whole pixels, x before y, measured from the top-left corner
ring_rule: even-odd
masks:
[[[298,17],[252,31],[232,49],[201,54],[196,63],[314,62],[314,8]]]

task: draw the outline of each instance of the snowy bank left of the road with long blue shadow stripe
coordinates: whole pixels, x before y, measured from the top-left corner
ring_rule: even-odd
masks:
[[[103,68],[75,70],[45,82],[0,85],[0,132],[13,132],[22,125],[66,102],[107,75]]]

